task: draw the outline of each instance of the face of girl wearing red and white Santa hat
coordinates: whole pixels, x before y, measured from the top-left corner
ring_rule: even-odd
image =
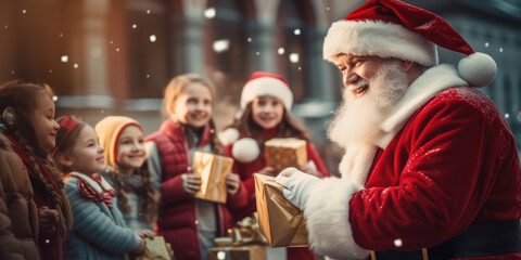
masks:
[[[277,127],[282,121],[283,115],[284,105],[277,98],[262,95],[252,101],[253,120],[264,129]]]

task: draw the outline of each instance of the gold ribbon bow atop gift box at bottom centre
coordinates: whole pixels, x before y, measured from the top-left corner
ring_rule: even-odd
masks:
[[[228,230],[228,236],[217,237],[214,242],[218,247],[267,244],[266,238],[258,229],[257,212],[253,212],[252,217],[238,221],[236,226]]]

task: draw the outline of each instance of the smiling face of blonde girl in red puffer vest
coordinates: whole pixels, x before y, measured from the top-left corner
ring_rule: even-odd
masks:
[[[190,83],[174,106],[175,118],[192,128],[205,126],[212,117],[212,92],[201,83]]]

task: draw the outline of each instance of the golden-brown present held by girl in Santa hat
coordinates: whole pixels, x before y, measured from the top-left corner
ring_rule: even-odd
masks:
[[[278,172],[288,167],[302,167],[307,164],[306,141],[287,138],[271,139],[264,143],[266,162]]]

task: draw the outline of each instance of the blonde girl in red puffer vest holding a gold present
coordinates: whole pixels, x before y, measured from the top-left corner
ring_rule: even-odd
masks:
[[[226,205],[193,197],[201,187],[201,179],[190,167],[194,152],[221,154],[212,104],[213,89],[203,77],[188,74],[174,78],[163,99],[168,119],[145,140],[149,166],[162,188],[156,234],[171,244],[177,259],[206,259],[214,238],[225,235],[233,224],[228,209],[246,205],[244,188],[234,173],[226,179]]]

